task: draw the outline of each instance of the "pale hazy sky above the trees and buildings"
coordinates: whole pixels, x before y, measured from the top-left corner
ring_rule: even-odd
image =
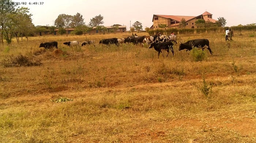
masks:
[[[14,0],[13,0],[14,1]],[[256,23],[256,0],[22,0],[33,15],[32,23],[52,26],[60,14],[83,15],[85,24],[95,16],[103,16],[104,26],[120,24],[129,30],[139,21],[143,30],[153,25],[153,15],[199,16],[205,11],[212,19],[226,19],[225,26]],[[44,2],[29,5],[29,2]],[[131,22],[130,22],[131,21]]]

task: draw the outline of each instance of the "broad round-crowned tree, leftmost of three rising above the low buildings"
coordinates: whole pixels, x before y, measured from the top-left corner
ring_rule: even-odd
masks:
[[[56,25],[58,28],[65,27],[67,36],[68,36],[68,28],[70,27],[70,25],[72,23],[72,19],[73,19],[72,15],[61,14],[54,21],[54,25]]]

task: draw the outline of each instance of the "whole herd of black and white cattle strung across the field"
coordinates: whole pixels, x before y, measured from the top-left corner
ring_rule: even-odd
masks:
[[[121,39],[117,39],[117,38],[109,38],[109,39],[102,39],[99,41],[99,44],[115,44],[117,46],[119,46],[120,44],[123,43],[133,43],[133,44],[144,44],[146,43],[148,45],[148,48],[153,48],[158,52],[158,58],[159,58],[159,54],[162,53],[162,50],[167,51],[167,56],[169,55],[169,50],[172,51],[172,55],[174,55],[174,51],[173,51],[173,43],[177,44],[177,36],[176,35],[154,35],[154,36],[128,36],[127,38],[121,38]],[[64,42],[63,44],[68,45],[69,47],[71,46],[79,46],[79,42],[78,41],[68,41],[68,42]],[[81,44],[81,46],[83,45],[90,45],[90,44],[94,44],[94,41],[86,41],[83,42]],[[209,50],[209,52],[212,54],[212,51],[209,47],[209,40],[208,39],[194,39],[194,40],[189,40],[186,43],[180,43],[179,46],[179,51],[186,49],[187,51],[191,50],[193,47],[201,47],[203,50],[205,48],[205,46],[207,46],[206,48]],[[56,41],[52,41],[52,42],[46,42],[46,43],[41,43],[39,45],[40,47],[44,47],[46,49],[51,48],[51,47],[56,47],[58,48],[58,43]],[[167,57],[166,56],[166,57]]]

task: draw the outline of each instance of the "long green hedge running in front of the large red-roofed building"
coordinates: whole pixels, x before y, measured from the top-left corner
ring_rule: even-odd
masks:
[[[155,35],[156,33],[161,32],[165,35],[170,35],[172,32],[175,34],[187,34],[187,33],[205,33],[207,32],[223,32],[226,28],[231,28],[234,31],[256,31],[256,24],[247,24],[247,25],[238,25],[231,27],[210,27],[210,28],[195,28],[195,29],[177,29],[177,28],[166,28],[166,29],[148,29],[147,33],[149,35]]]

